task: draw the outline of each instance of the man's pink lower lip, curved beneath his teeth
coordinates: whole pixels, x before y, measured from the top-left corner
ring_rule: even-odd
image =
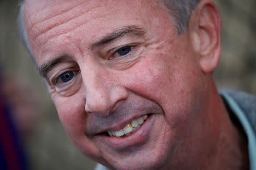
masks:
[[[109,137],[107,135],[98,135],[98,138],[115,150],[121,150],[130,146],[140,145],[146,142],[152,128],[153,120],[154,115],[151,114],[148,116],[146,121],[144,121],[141,128],[126,137]]]

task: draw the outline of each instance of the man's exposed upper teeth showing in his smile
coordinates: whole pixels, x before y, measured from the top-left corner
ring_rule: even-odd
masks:
[[[146,121],[147,117],[147,115],[142,116],[136,120],[131,121],[129,124],[125,126],[125,128],[118,131],[108,131],[108,134],[114,137],[128,136],[134,133],[134,131],[138,130],[144,123],[144,121]]]

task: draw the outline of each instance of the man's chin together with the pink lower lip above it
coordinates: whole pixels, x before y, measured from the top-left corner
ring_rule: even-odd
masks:
[[[141,128],[130,135],[100,134],[92,141],[109,164],[100,163],[110,169],[161,169],[170,162],[175,146],[175,134],[170,132],[163,114],[151,114]]]

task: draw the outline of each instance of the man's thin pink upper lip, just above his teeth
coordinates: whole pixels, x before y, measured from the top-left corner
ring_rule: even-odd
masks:
[[[98,129],[95,134],[97,135],[97,134],[105,133],[106,131],[118,131],[118,130],[121,130],[121,129],[125,128],[125,126],[127,124],[129,124],[131,121],[136,120],[136,119],[138,119],[138,118],[140,118],[140,117],[142,117],[144,115],[147,115],[147,114],[135,115],[135,116],[127,118],[125,120],[122,120],[122,121],[119,121],[119,122],[115,122],[114,124],[110,124],[109,126],[102,127],[100,129]]]

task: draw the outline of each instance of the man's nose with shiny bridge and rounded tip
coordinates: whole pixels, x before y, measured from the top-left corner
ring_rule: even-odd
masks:
[[[89,71],[82,72],[85,86],[85,111],[87,113],[108,116],[118,101],[126,99],[124,87],[114,80],[114,73],[110,73],[104,66],[95,66]]]

